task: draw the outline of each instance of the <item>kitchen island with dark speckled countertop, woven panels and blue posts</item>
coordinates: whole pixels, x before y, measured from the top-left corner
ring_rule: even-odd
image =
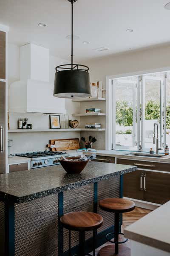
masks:
[[[68,255],[68,231],[59,218],[77,210],[103,216],[96,247],[103,244],[105,234],[113,232],[114,219],[99,209],[98,201],[122,197],[123,174],[136,170],[136,166],[89,162],[79,175],[68,175],[60,165],[0,175],[0,255]],[[71,232],[73,253],[78,238]],[[90,252],[92,233],[87,232],[85,239]]]

